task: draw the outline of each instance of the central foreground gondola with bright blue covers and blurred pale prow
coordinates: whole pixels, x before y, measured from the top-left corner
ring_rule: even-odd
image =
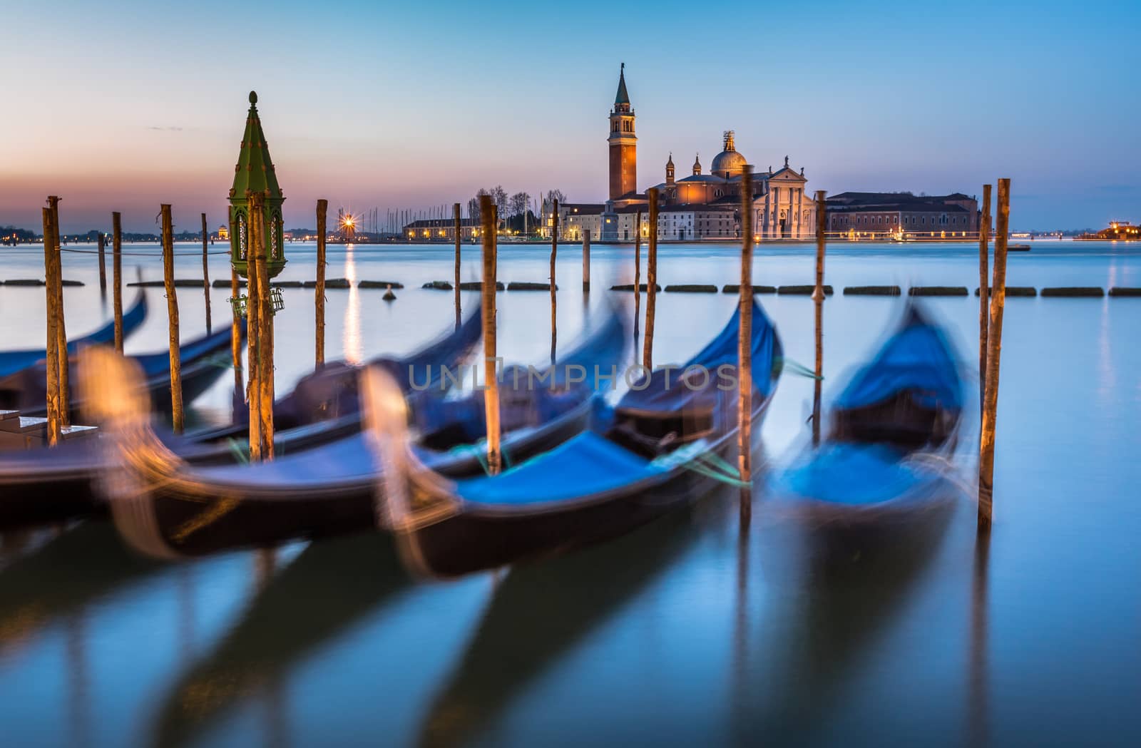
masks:
[[[599,408],[590,429],[499,475],[448,480],[407,448],[398,417],[378,418],[386,521],[410,569],[456,576],[565,552],[735,480],[725,461],[738,449],[738,388],[726,374],[735,377],[738,320],[739,310],[680,369],[644,375],[616,406]],[[779,338],[755,303],[751,350],[755,423],[783,368]]]

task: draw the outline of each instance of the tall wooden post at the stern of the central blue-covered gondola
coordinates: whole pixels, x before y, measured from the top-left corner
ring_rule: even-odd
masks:
[[[656,190],[654,190],[656,192]],[[657,205],[650,198],[650,225],[656,226]],[[652,266],[653,267],[653,266]],[[652,283],[652,282],[649,282]],[[646,287],[650,293],[650,287]],[[653,298],[653,296],[650,296]],[[753,514],[753,168],[741,172],[741,296],[737,331],[737,472],[741,473],[741,526]],[[648,307],[647,307],[648,311]],[[647,320],[647,328],[649,327]]]

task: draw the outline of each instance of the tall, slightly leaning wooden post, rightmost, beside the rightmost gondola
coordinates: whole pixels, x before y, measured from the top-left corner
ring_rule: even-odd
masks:
[[[998,180],[995,221],[995,275],[990,284],[990,328],[987,335],[986,397],[979,439],[979,531],[989,532],[994,513],[995,421],[998,415],[998,363],[1002,356],[1002,316],[1006,304],[1006,235],[1010,231],[1010,179]],[[982,293],[979,291],[979,293]]]

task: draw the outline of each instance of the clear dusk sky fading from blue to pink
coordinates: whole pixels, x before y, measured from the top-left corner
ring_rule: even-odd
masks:
[[[1141,221],[1141,3],[218,2],[0,6],[0,226],[225,219],[248,95],[286,195],[353,211],[479,187],[607,193],[618,66],[638,185],[709,168],[721,132],[809,190],[1012,180],[1013,228]]]

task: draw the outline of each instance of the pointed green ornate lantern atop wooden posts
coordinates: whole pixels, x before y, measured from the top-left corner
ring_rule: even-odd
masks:
[[[250,221],[259,220],[266,237],[266,267],[273,278],[285,267],[285,249],[282,242],[282,203],[285,196],[274,162],[269,158],[269,146],[261,132],[258,116],[258,95],[250,91],[250,113],[245,117],[245,135],[242,151],[234,166],[234,186],[229,188],[229,259],[240,276],[248,277],[246,259],[250,250]],[[265,209],[260,216],[250,216],[249,196],[265,195]]]

